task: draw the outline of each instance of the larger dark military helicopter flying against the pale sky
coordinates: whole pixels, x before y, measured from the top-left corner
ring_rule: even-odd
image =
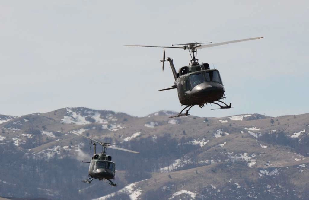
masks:
[[[185,105],[186,107],[180,111],[175,116],[172,117],[180,117],[189,115],[189,110],[195,106],[199,105],[200,108],[204,107],[204,105],[216,104],[220,108],[218,109],[231,109],[232,103],[227,105],[222,99],[225,99],[226,96],[224,94],[224,87],[222,83],[222,79],[220,77],[220,73],[216,69],[210,69],[208,63],[199,63],[197,59],[197,50],[203,48],[209,48],[219,45],[226,45],[235,42],[242,42],[248,40],[256,40],[261,39],[263,37],[254,37],[247,38],[242,40],[232,40],[227,42],[220,42],[212,44],[212,42],[195,42],[195,43],[186,43],[186,44],[176,44],[172,46],[149,46],[149,45],[124,45],[124,46],[134,46],[134,47],[159,47],[159,48],[176,48],[176,49],[184,49],[188,50],[191,56],[191,60],[188,66],[183,66],[176,72],[173,59],[167,57],[165,59],[165,49],[163,49],[163,62],[162,71],[164,71],[164,62],[168,61],[171,66],[171,70],[174,76],[174,85],[170,88],[161,89],[159,91],[166,91],[171,89],[176,89],[178,91],[178,99],[180,101],[181,106]],[[207,44],[207,45],[202,45]],[[182,45],[180,47],[180,45]],[[188,108],[188,109],[187,109]],[[182,113],[185,109],[186,112]]]

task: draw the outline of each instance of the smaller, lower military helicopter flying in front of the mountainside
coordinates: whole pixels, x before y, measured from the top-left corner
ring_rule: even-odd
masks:
[[[84,138],[88,138],[87,136],[84,136],[84,135],[79,134],[79,133],[75,133],[75,134],[83,136]],[[91,150],[91,146],[92,145],[94,146],[94,154],[93,154],[90,162],[82,161],[83,163],[90,163],[89,164],[89,170],[88,170],[88,176],[90,178],[88,178],[86,180],[82,180],[82,182],[90,184],[91,181],[93,181],[95,179],[99,179],[99,181],[102,181],[102,180],[105,179],[105,180],[109,181],[109,183],[108,182],[106,182],[106,183],[108,183],[112,186],[117,186],[117,184],[115,184],[111,181],[111,180],[115,179],[115,173],[116,173],[115,163],[112,162],[112,156],[106,155],[106,149],[111,148],[111,149],[117,149],[117,150],[122,150],[122,151],[128,151],[128,152],[131,152],[131,153],[139,153],[139,152],[120,148],[120,147],[114,147],[112,145],[116,145],[116,144],[112,144],[112,143],[98,142],[98,141],[94,140],[92,138],[92,136],[91,136],[91,138],[88,138],[88,139],[91,140],[90,150]],[[102,146],[102,152],[100,154],[96,153],[97,143]]]

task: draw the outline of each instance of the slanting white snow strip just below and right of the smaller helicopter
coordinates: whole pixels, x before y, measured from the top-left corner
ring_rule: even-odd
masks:
[[[142,181],[146,181],[148,179],[142,180]],[[139,198],[139,196],[142,194],[142,189],[137,185],[138,183],[142,182],[142,181],[138,181],[135,183],[131,183],[127,186],[125,186],[124,188],[118,190],[117,192],[108,194],[104,197],[100,197],[97,199],[93,199],[93,200],[107,200],[109,198],[115,199],[113,197],[115,197],[116,194],[127,194],[129,196],[130,200],[137,200],[137,199],[141,199]]]

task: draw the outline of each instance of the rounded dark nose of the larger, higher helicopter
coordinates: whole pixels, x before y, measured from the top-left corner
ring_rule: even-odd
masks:
[[[212,102],[223,97],[224,87],[217,82],[204,82],[195,86],[192,89],[192,94],[196,98],[203,98],[207,102]]]

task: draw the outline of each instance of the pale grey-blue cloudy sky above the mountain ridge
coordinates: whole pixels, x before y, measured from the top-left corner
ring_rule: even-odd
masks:
[[[180,111],[164,45],[263,39],[201,49],[234,109],[224,117],[308,113],[308,1],[0,1],[0,114],[87,107],[146,116]],[[176,70],[187,51],[165,49]]]

